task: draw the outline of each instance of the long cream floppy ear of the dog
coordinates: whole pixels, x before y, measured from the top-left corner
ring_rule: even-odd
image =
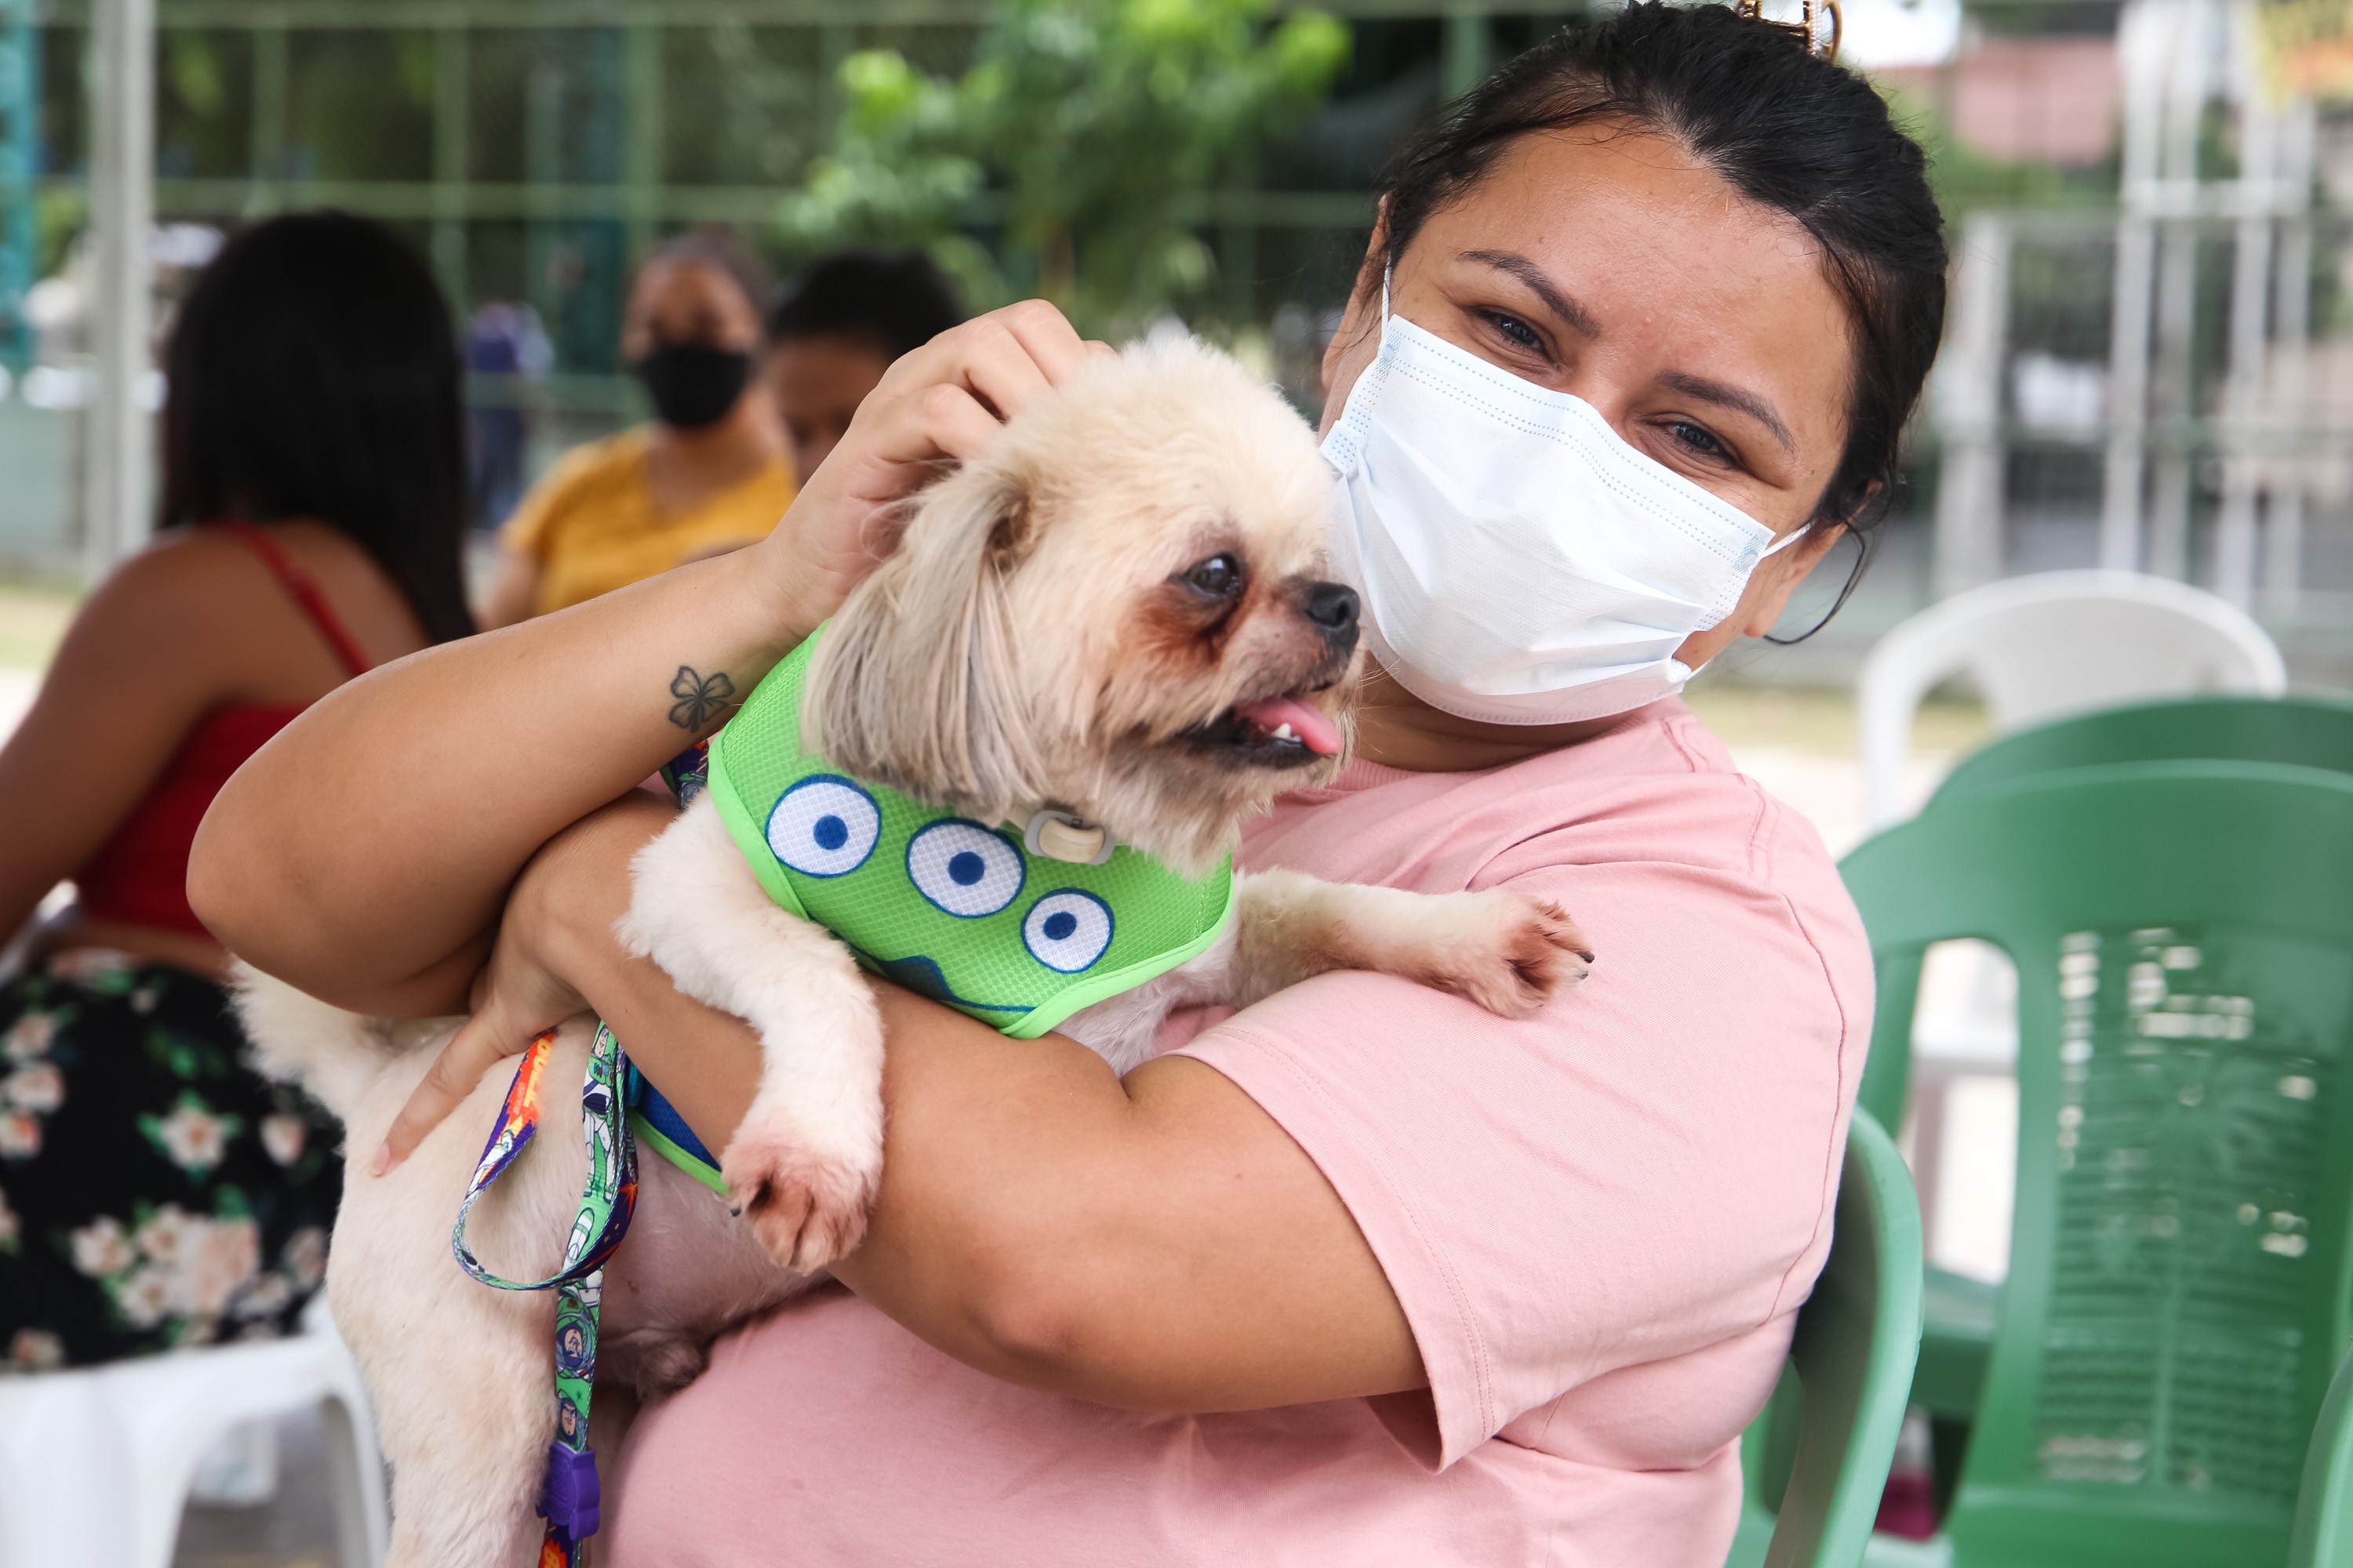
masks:
[[[802,745],[984,823],[1038,799],[1005,592],[1028,534],[1028,487],[1007,465],[967,465],[925,491],[899,550],[816,644]]]

